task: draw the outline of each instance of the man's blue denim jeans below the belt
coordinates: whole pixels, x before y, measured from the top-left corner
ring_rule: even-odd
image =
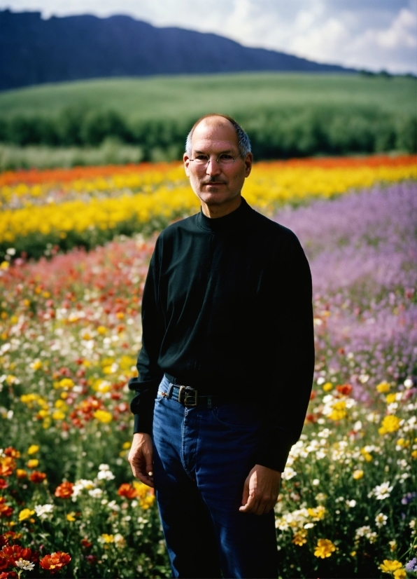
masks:
[[[164,377],[155,402],[154,480],[174,577],[276,578],[274,512],[239,512],[255,465],[259,410],[184,407]],[[165,393],[162,395],[162,393]]]

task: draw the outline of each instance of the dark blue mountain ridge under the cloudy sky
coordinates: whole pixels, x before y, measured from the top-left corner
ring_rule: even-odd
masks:
[[[216,34],[156,28],[129,16],[48,20],[0,12],[0,90],[57,81],[236,71],[349,71]]]

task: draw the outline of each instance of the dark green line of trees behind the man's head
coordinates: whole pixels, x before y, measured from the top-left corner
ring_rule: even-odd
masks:
[[[294,107],[236,114],[255,158],[417,150],[417,116],[374,107]],[[115,111],[67,108],[57,116],[0,116],[0,142],[20,147],[98,147],[106,139],[139,145],[143,160],[181,158],[194,118],[132,121]]]

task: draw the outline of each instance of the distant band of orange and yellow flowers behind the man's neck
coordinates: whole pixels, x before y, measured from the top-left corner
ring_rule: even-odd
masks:
[[[404,179],[417,179],[416,156],[257,163],[245,195],[271,214],[278,205]],[[150,233],[198,208],[178,163],[4,172],[0,204],[0,254],[13,245],[33,257]]]

